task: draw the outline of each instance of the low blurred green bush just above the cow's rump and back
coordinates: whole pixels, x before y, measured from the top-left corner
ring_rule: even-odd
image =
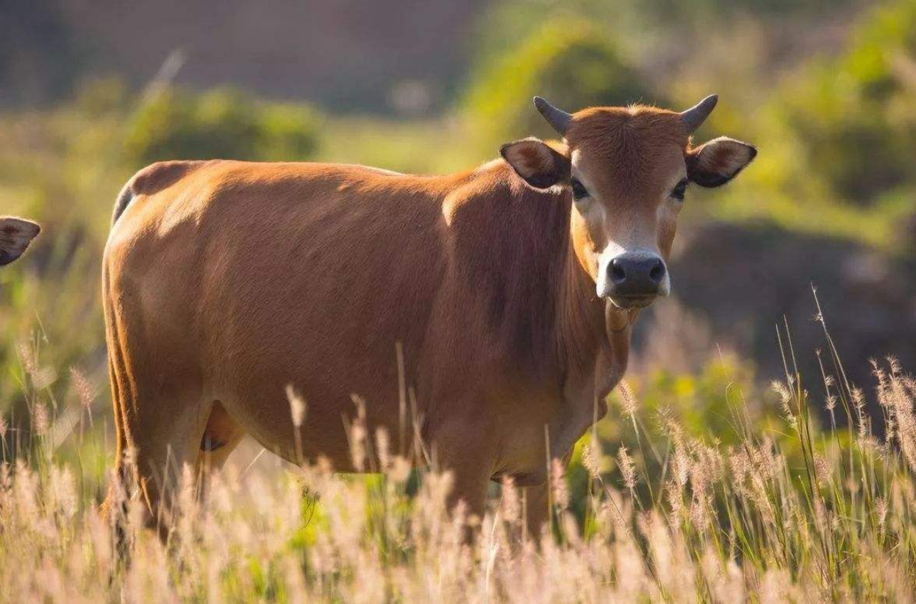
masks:
[[[137,165],[160,159],[308,159],[319,119],[308,107],[259,102],[233,89],[166,88],[142,104],[125,148]]]

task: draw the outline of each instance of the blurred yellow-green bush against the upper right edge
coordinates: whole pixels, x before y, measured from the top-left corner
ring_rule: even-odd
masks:
[[[804,70],[774,104],[840,198],[871,204],[916,185],[916,3],[879,8],[843,55]]]

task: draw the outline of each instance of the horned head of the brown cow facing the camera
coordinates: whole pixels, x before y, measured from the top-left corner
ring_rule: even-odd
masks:
[[[726,137],[692,146],[715,102],[709,96],[682,113],[635,105],[568,114],[535,97],[562,142],[526,138],[500,149],[532,187],[569,187],[576,257],[598,297],[619,309],[671,291],[666,260],[688,186],[725,184],[757,155]]]

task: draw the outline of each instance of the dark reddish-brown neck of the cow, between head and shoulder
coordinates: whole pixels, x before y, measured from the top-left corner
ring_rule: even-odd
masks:
[[[535,191],[502,161],[459,179],[443,203],[458,258],[452,295],[474,299],[490,349],[512,368],[603,399],[626,367],[630,330],[609,332],[605,302],[576,259],[570,192]]]

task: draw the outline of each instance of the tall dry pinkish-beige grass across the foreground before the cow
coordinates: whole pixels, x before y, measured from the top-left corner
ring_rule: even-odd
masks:
[[[818,401],[792,368],[791,340],[780,341],[786,379],[772,387],[782,423],[764,431],[748,403],[734,404],[732,445],[692,434],[674,412],[648,412],[622,385],[612,413],[631,445],[587,436],[575,493],[551,467],[540,544],[523,530],[511,481],[485,518],[450,517],[447,476],[418,480],[385,454],[384,434],[365,434],[372,442],[357,448],[374,449],[384,470],[370,478],[323,464],[279,474],[229,466],[202,498],[186,468],[166,543],[141,528],[140,500],[127,502],[129,565],[98,512],[92,464],[56,453],[62,423],[66,438],[92,442],[100,421],[77,372],[79,408],[29,390],[31,445],[0,429],[0,601],[913,601],[916,379],[893,359],[875,364],[879,438],[867,393],[846,382],[829,336]],[[27,373],[41,379],[38,365]],[[832,418],[823,429],[816,405]]]

